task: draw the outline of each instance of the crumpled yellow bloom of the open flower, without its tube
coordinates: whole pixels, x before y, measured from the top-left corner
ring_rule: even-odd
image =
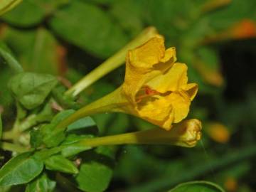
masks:
[[[196,83],[188,84],[186,64],[176,63],[175,48],[165,49],[162,36],[127,53],[124,112],[169,130],[187,116],[197,90]]]

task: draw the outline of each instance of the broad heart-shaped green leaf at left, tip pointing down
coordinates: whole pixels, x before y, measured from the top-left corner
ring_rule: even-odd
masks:
[[[11,78],[9,87],[16,100],[31,110],[44,102],[57,82],[53,75],[19,73]]]

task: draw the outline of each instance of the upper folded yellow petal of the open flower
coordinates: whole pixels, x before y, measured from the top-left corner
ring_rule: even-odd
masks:
[[[142,86],[171,68],[175,61],[175,48],[165,50],[162,36],[155,36],[142,46],[129,50],[122,86],[124,95],[135,104],[135,96]]]

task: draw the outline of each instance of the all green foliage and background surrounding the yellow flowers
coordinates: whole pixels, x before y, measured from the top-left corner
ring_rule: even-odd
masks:
[[[254,191],[255,13],[254,0],[2,1],[0,191]],[[155,127],[127,114],[55,129],[121,85],[123,67],[65,95],[145,26],[176,47],[198,83],[189,114],[203,122],[198,146],[81,144]]]

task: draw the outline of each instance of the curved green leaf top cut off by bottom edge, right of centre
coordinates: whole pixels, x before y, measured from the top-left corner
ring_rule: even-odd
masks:
[[[220,186],[208,181],[191,181],[181,183],[169,192],[225,192]]]

